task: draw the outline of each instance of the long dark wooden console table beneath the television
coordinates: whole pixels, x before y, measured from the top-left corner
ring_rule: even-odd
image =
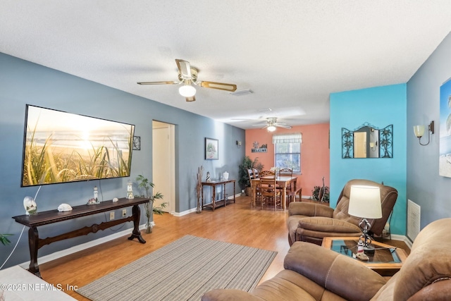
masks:
[[[138,206],[139,204],[144,204],[149,202],[149,199],[144,197],[135,197],[134,199],[126,199],[121,198],[118,202],[105,201],[100,204],[93,205],[80,205],[73,207],[72,211],[63,211],[59,212],[58,210],[49,210],[38,212],[37,214],[32,215],[19,215],[13,216],[18,223],[21,223],[27,227],[30,227],[28,230],[28,244],[30,246],[30,268],[28,271],[35,274],[36,276],[41,277],[41,273],[39,272],[39,265],[37,264],[37,250],[39,250],[44,245],[49,245],[51,242],[56,242],[59,240],[65,240],[68,238],[75,238],[81,235],[87,235],[89,233],[96,233],[99,230],[105,230],[106,228],[110,228],[112,226],[119,225],[121,223],[125,223],[127,221],[133,221],[133,231],[132,235],[128,238],[132,240],[133,238],[137,238],[137,240],[141,243],[145,243],[146,241],[142,238],[140,233],[140,216],[141,210]],[[106,211],[113,211],[116,209],[121,209],[125,207],[132,206],[132,215],[125,217],[123,219],[115,219],[112,221],[105,221],[97,225],[94,223],[92,226],[86,226],[84,228],[80,228],[74,231],[70,231],[68,233],[63,233],[61,235],[56,235],[52,238],[39,238],[39,233],[37,232],[37,227],[48,225],[50,223],[58,223],[58,221],[68,221],[69,219],[77,219],[82,216],[89,216],[92,214],[98,214]]]

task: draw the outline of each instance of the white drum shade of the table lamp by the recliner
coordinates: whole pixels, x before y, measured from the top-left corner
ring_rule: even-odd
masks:
[[[381,191],[375,186],[352,185],[347,213],[364,219],[382,217]]]

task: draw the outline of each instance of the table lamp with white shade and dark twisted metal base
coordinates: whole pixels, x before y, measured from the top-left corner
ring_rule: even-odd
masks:
[[[347,213],[362,218],[359,226],[363,233],[359,239],[363,238],[365,251],[374,251],[374,247],[371,245],[371,236],[368,234],[371,224],[367,219],[381,219],[382,217],[381,191],[379,188],[376,186],[352,185]]]

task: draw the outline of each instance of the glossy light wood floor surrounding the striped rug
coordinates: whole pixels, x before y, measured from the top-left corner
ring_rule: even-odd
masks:
[[[190,234],[277,251],[276,258],[261,279],[265,281],[283,269],[283,259],[290,247],[285,224],[288,211],[274,211],[271,207],[261,210],[260,207],[251,207],[249,203],[249,197],[237,197],[235,204],[215,211],[205,210],[201,214],[192,213],[180,217],[171,214],[156,215],[153,233],[142,231],[142,237],[147,241],[144,245],[137,240],[128,240],[128,236],[111,240],[39,265],[42,278],[54,285],[62,285],[63,288],[66,288],[66,285],[81,287],[183,235]],[[392,245],[390,242],[394,242],[397,247],[407,249],[404,242],[384,242]],[[202,260],[201,254],[202,252],[199,252],[199,260]],[[66,290],[66,293],[75,299],[87,300],[73,290]]]

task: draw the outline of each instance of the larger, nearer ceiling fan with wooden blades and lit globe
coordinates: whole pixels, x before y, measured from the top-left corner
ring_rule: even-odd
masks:
[[[197,80],[197,73],[199,70],[190,66],[190,62],[183,61],[181,59],[175,59],[175,63],[177,63],[178,68],[178,81],[168,81],[168,82],[137,82],[138,85],[181,85],[178,88],[178,92],[180,95],[184,96],[187,102],[194,102],[196,97],[196,88],[194,88],[191,84],[198,85],[204,88],[218,89],[218,90],[226,90],[230,92],[234,92],[237,90],[237,85],[226,84],[223,82],[206,82]]]

